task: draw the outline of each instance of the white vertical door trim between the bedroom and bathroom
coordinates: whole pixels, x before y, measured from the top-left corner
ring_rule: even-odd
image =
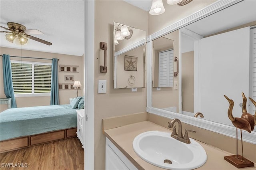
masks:
[[[84,169],[94,169],[94,0],[85,3],[85,126],[84,131]]]

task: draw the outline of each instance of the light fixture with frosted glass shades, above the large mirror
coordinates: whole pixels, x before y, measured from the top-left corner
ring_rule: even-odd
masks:
[[[167,0],[167,4],[174,5],[177,4],[178,6],[183,6],[191,2],[192,0]],[[152,5],[149,11],[150,15],[160,15],[165,12],[164,5],[162,0],[153,0]]]

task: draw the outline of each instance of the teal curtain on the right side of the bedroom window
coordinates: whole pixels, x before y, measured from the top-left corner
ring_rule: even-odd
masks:
[[[52,84],[51,84],[51,103],[50,105],[59,105],[59,83],[58,83],[58,59],[52,59]]]

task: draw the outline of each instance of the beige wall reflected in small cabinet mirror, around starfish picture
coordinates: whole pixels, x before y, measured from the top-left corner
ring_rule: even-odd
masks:
[[[116,59],[116,87],[117,88],[135,88],[135,87],[145,87],[145,47],[142,45],[126,53],[117,56]],[[124,57],[125,55],[137,57],[137,71],[127,71],[124,70]],[[130,75],[135,77],[130,78]],[[130,78],[130,82],[128,79]],[[132,84],[134,82],[134,84]]]

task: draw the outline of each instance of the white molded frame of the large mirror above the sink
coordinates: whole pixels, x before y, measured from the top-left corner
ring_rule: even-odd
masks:
[[[208,121],[205,119],[199,119],[196,117],[191,117],[187,115],[182,115],[180,113],[174,113],[170,111],[165,111],[163,109],[157,109],[152,107],[152,40],[155,40],[156,38],[159,38],[161,36],[164,36],[166,34],[169,34],[175,30],[178,30],[180,28],[183,28],[184,26],[187,26],[193,22],[196,22],[202,18],[205,18],[211,14],[214,14],[220,10],[223,10],[229,6],[232,6],[234,4],[237,4],[238,2],[241,2],[243,0],[234,0],[234,1],[223,1],[218,0],[209,6],[206,6],[202,10],[199,10],[198,12],[195,12],[194,14],[183,18],[182,20],[179,20],[178,22],[175,22],[174,24],[154,33],[147,37],[147,107],[146,111],[148,113],[164,116],[170,119],[178,118],[183,123],[197,126],[199,128],[203,128],[206,130],[210,130],[212,132],[217,132],[220,134],[223,134],[225,136],[229,136],[232,138],[236,138],[236,127],[230,126],[230,125],[224,125],[220,123],[216,123],[213,121]],[[181,35],[181,34],[180,34]],[[179,53],[181,53],[181,50],[179,49]],[[181,64],[181,62],[180,62]],[[179,65],[180,67],[180,65]],[[179,89],[181,89],[181,83],[179,83]],[[180,98],[180,97],[179,97]],[[179,103],[181,102],[181,99],[179,99]],[[252,131],[244,132],[243,133],[243,140],[252,144],[256,144],[256,132]],[[240,137],[238,136],[240,139]]]

